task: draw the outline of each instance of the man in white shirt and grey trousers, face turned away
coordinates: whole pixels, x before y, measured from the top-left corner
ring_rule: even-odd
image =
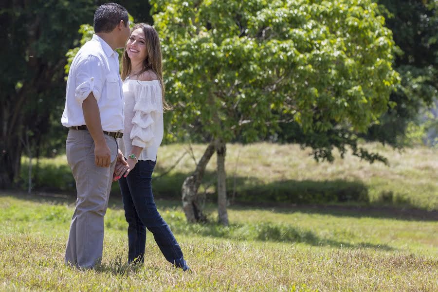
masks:
[[[124,99],[115,51],[129,37],[128,11],[103,4],[94,14],[94,32],[76,54],[67,80],[62,125],[69,128],[67,161],[76,181],[77,201],[70,225],[65,262],[79,268],[100,263],[104,215],[124,129]]]

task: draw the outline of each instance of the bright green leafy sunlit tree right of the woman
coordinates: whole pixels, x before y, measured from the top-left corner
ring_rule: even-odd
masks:
[[[399,82],[391,31],[371,0],[151,3],[175,107],[172,129],[196,131],[215,146],[223,224],[227,142],[274,132],[281,114],[305,133],[339,125],[363,132],[387,109]],[[369,154],[362,150],[355,154]],[[196,183],[187,178],[186,193],[196,192],[190,186]]]

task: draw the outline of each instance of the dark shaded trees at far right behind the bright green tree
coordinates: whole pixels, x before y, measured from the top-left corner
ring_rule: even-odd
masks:
[[[421,141],[424,132],[429,131],[429,139],[432,140],[429,143],[434,144],[437,118],[427,109],[434,107],[434,100],[438,104],[437,1],[380,0],[378,3],[379,9],[388,18],[386,26],[394,34],[397,45],[394,69],[401,77],[397,90],[390,95],[387,111],[370,125],[366,133],[352,131],[342,124],[330,131],[308,133],[298,123],[290,122],[290,115],[283,114],[282,120],[286,122],[280,124],[280,130],[271,135],[271,140],[310,146],[317,160],[333,161],[334,147],[341,155],[349,147],[353,153],[361,152],[359,156],[370,162],[378,160],[385,163],[387,160],[381,155],[367,153],[358,147],[358,139],[365,138],[402,148],[412,141]],[[424,115],[430,117],[425,119]]]

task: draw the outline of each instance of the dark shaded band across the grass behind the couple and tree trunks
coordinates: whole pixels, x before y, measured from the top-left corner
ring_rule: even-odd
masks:
[[[157,165],[154,173],[153,189],[156,198],[181,200],[181,186],[188,173],[171,172],[161,176],[166,169]],[[403,219],[437,219],[437,211],[419,210],[411,201],[403,199],[392,190],[385,190],[379,196],[377,203],[370,205],[368,187],[361,181],[346,180],[283,180],[265,183],[251,174],[246,177],[227,178],[228,198],[239,205],[257,207],[257,205],[288,206],[292,209],[295,205],[317,205],[316,212],[327,212],[322,206],[343,205],[338,209],[329,207],[329,212],[340,210],[352,213],[366,213],[363,216],[378,216],[383,218]],[[27,164],[21,167],[21,178],[27,176]],[[23,189],[27,188],[27,179],[22,179]],[[206,171],[201,189],[207,188],[207,201],[216,202],[216,172]],[[75,196],[75,183],[67,164],[43,164],[35,173],[34,189],[43,192],[61,192]],[[118,183],[111,187],[113,196],[120,197]],[[381,208],[381,206],[385,206]],[[351,207],[352,206],[352,207]],[[360,208],[354,208],[360,206]],[[300,207],[301,208],[301,207]],[[307,208],[305,206],[305,208]],[[313,209],[310,208],[309,212]],[[377,211],[377,212],[376,212]],[[384,213],[387,213],[386,215]],[[349,216],[349,215],[347,215]],[[362,216],[362,215],[359,215]]]

